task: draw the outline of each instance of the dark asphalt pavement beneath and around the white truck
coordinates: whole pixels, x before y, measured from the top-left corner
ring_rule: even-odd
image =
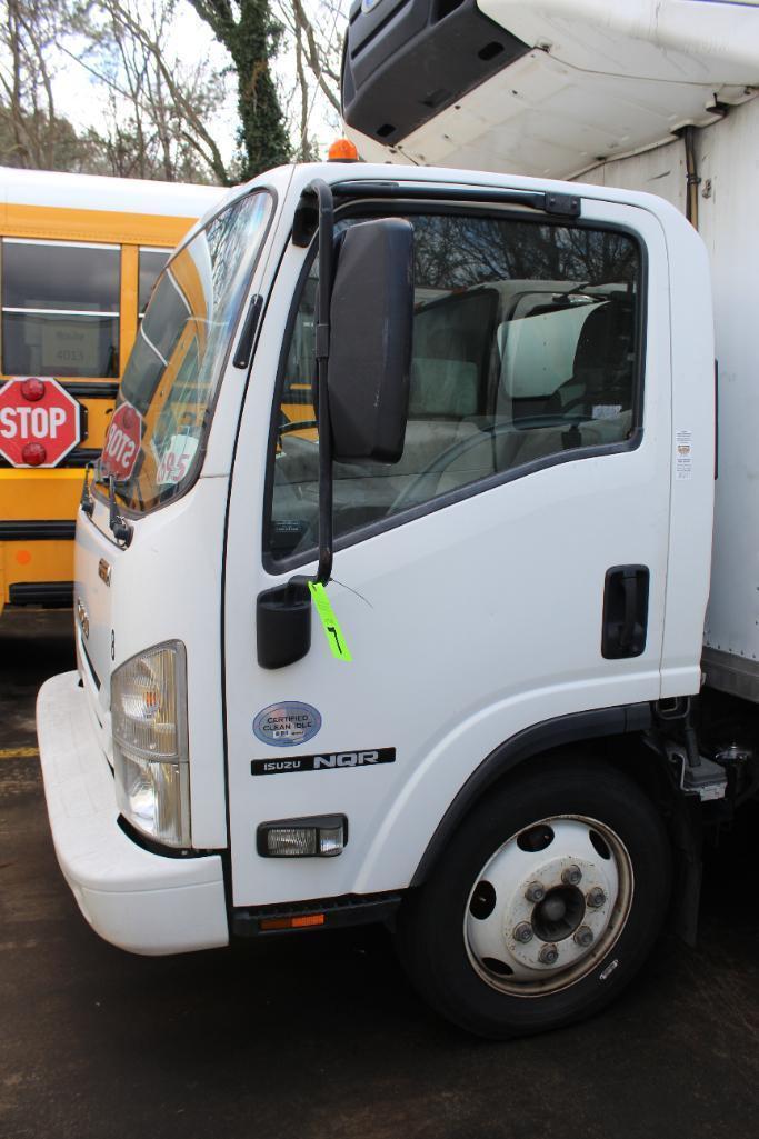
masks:
[[[757,812],[711,860],[697,949],[666,936],[613,1008],[540,1038],[441,1022],[379,927],[133,957],[48,831],[34,698],[70,626],[0,618],[2,1139],[759,1136]]]

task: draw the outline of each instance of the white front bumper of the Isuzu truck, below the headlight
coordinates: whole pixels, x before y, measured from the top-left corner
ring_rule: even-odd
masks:
[[[133,953],[226,945],[220,855],[164,858],[124,834],[76,672],[42,686],[36,730],[56,854],[92,928]]]

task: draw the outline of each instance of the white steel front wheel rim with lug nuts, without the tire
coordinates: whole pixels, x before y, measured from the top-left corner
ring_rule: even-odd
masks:
[[[464,917],[470,961],[499,992],[558,992],[606,957],[632,892],[632,862],[611,827],[578,814],[540,819],[499,846],[475,878]]]

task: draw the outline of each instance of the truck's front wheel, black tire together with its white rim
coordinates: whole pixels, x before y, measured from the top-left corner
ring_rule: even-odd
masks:
[[[613,768],[566,756],[485,793],[408,892],[397,944],[447,1019],[491,1039],[545,1032],[597,1013],[632,980],[670,882],[650,800]]]

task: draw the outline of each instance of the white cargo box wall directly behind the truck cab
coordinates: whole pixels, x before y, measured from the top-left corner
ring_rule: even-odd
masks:
[[[711,262],[719,368],[719,477],[712,585],[704,636],[707,672],[720,688],[759,696],[759,99],[695,136],[699,231]],[[682,141],[604,163],[583,180],[651,189],[685,208]]]

